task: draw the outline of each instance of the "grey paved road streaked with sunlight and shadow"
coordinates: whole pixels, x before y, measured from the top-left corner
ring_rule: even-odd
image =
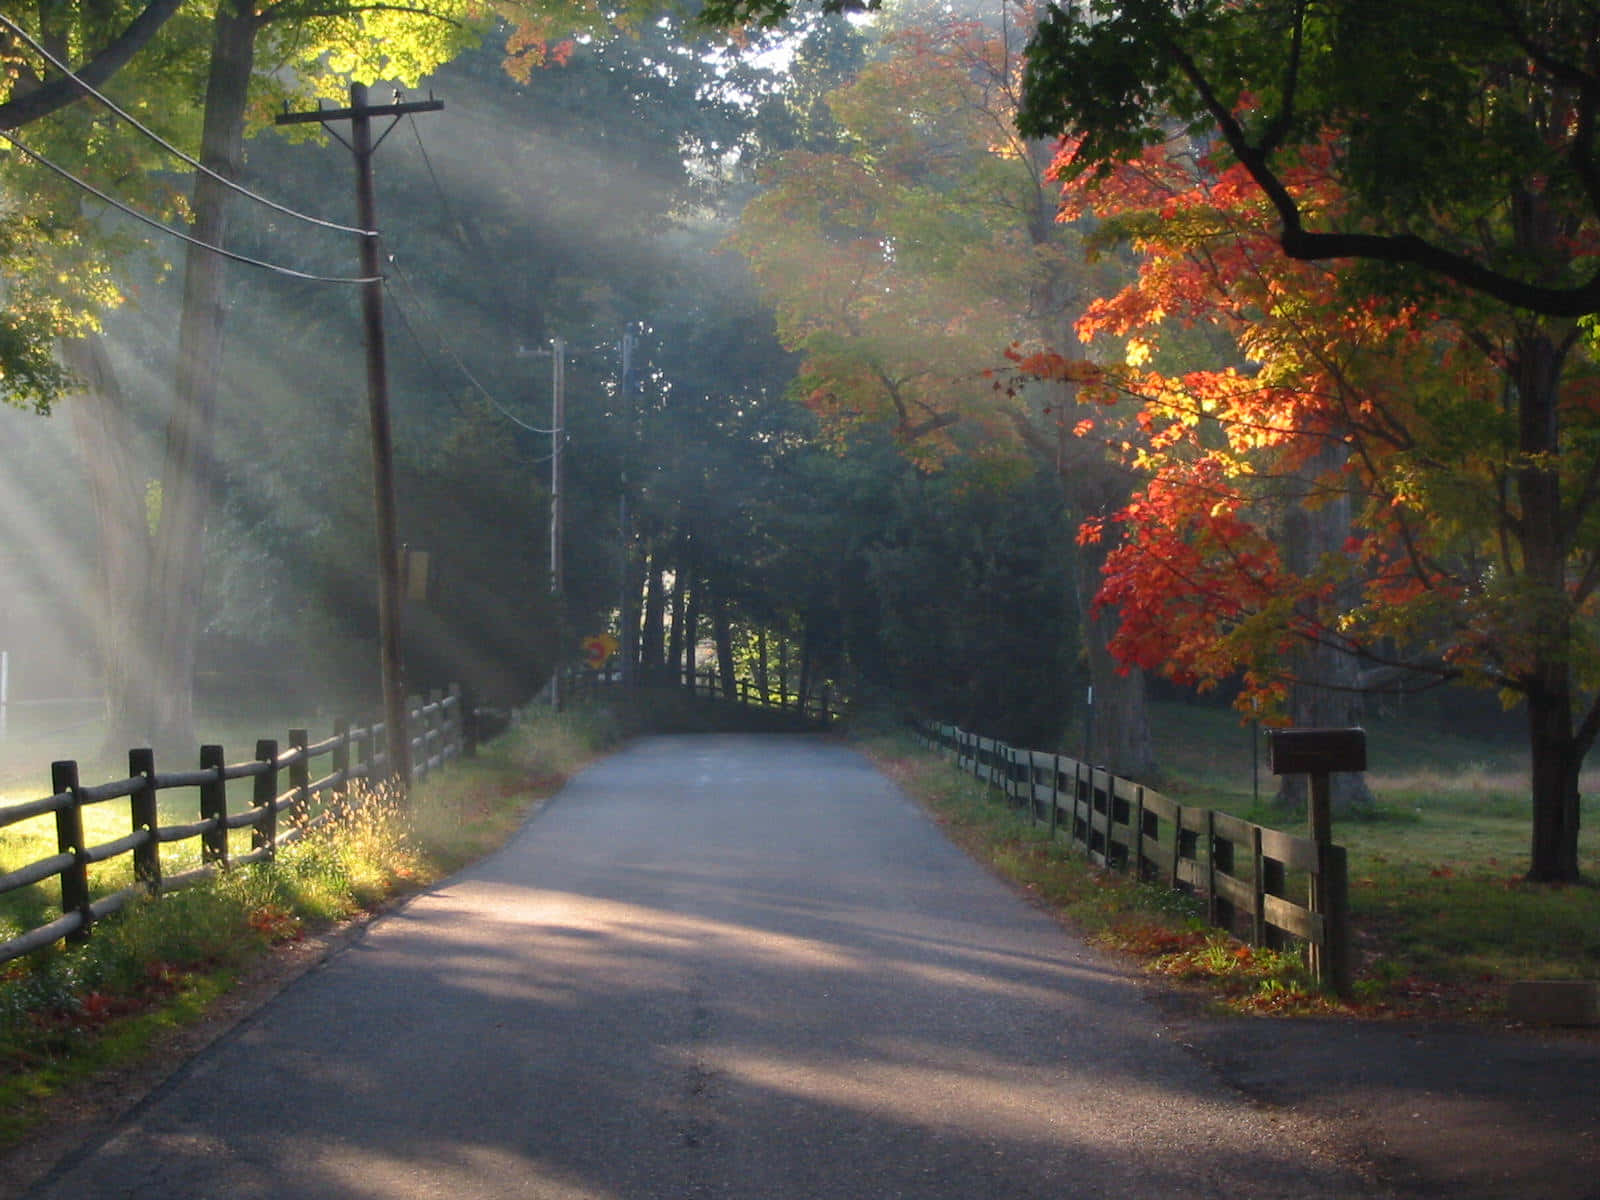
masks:
[[[1360,1197],[848,749],[576,778],[37,1197]]]

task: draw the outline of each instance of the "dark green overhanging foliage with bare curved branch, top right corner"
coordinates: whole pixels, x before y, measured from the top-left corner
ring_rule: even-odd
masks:
[[[1219,139],[1266,197],[1283,251],[1448,280],[1514,309],[1600,309],[1587,3],[1090,0],[1051,5],[1019,125],[1104,173],[1174,126]],[[1352,198],[1310,213],[1318,147]]]

